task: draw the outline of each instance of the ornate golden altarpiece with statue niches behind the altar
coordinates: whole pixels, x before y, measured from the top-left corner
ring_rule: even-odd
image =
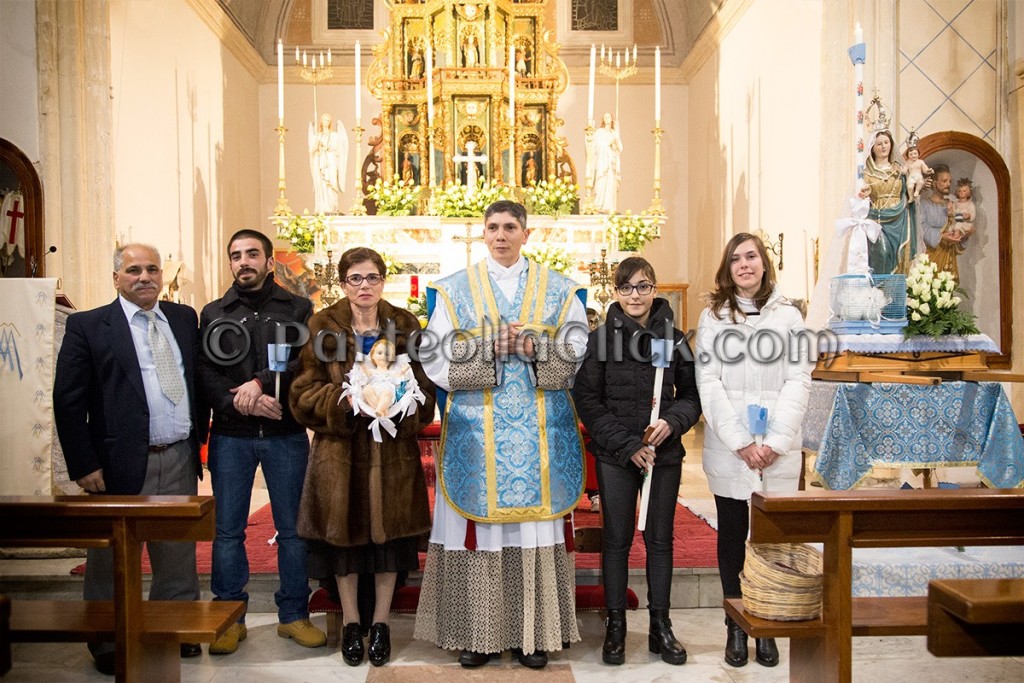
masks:
[[[426,186],[465,184],[468,163],[477,165],[478,177],[509,185],[574,176],[565,139],[557,134],[564,123],[556,113],[558,96],[568,75],[559,46],[548,39],[547,5],[393,5],[390,29],[374,48],[368,74],[368,87],[381,100],[383,177],[415,178]],[[470,146],[479,161],[461,161]]]

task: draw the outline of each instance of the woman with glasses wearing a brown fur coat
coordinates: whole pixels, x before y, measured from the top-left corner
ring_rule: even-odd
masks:
[[[420,331],[415,315],[382,298],[384,259],[372,249],[349,249],[338,261],[345,297],[309,319],[309,341],[300,355],[290,403],[299,424],[313,431],[298,532],[308,541],[308,572],[334,578],[341,596],[344,629],[341,656],[356,666],[367,654],[380,667],[391,657],[388,614],[399,571],[419,569],[419,537],[430,530],[427,485],[417,433],[434,418],[434,385],[419,361],[413,374],[426,400],[397,422],[391,436],[377,442],[369,426],[376,415],[342,396],[356,352],[371,355],[379,340],[388,350],[409,353],[409,338]],[[394,336],[390,330],[393,327]],[[318,349],[317,335],[322,335]],[[376,602],[362,644],[358,574],[373,574]],[[369,616],[369,615],[367,615]]]

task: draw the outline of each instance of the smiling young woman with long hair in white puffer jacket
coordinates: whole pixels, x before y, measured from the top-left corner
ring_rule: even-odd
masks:
[[[722,593],[740,597],[749,504],[755,490],[796,490],[801,471],[800,425],[807,409],[813,337],[800,310],[775,291],[775,269],[764,243],[740,232],[725,246],[716,289],[697,327],[697,389],[705,414],[701,459],[718,509]],[[758,444],[748,407],[768,410]],[[725,660],[748,660],[746,634],[726,617]],[[774,639],[757,639],[758,664],[774,667]]]

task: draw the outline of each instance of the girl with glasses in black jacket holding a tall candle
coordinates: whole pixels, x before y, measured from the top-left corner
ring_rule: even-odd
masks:
[[[626,660],[626,590],[629,555],[636,527],[637,495],[644,472],[651,479],[647,527],[648,649],[668,664],[686,661],[669,620],[676,498],[682,473],[680,437],[700,418],[693,358],[672,307],[657,298],[654,268],[630,257],[614,272],[615,303],[604,325],[591,333],[587,355],[575,377],[572,398],[592,438],[597,462],[603,532],[601,572],[608,617],[601,658]],[[650,422],[654,387],[651,339],[675,345],[662,385],[659,418]]]

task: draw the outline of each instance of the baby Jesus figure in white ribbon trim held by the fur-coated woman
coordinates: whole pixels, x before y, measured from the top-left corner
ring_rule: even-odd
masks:
[[[342,386],[341,397],[349,396],[356,413],[373,418],[370,430],[377,441],[383,440],[381,427],[394,436],[395,422],[415,413],[417,401],[426,401],[409,356],[396,357],[394,344],[387,339],[377,340],[370,353],[355,356],[348,382]]]

